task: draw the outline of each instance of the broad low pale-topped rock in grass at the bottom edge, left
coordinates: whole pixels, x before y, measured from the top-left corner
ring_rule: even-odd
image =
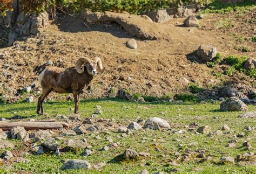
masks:
[[[91,164],[88,161],[84,161],[81,159],[69,159],[63,166],[60,168],[61,170],[67,169],[90,169]]]

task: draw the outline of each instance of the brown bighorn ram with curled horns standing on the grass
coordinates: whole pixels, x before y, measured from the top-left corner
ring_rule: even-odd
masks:
[[[103,73],[105,68],[102,66],[102,60],[96,57],[93,61],[89,58],[80,58],[76,62],[76,67],[57,68],[47,67],[39,75],[43,92],[38,99],[37,114],[44,113],[43,101],[50,94],[56,93],[72,93],[75,99],[75,113],[78,113],[79,94],[85,86],[89,85],[93,76],[97,73],[96,66],[99,72]]]

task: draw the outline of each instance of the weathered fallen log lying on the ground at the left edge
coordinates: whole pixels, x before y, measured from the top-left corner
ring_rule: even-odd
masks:
[[[24,127],[25,130],[37,129],[62,129],[67,127],[66,124],[60,122],[43,122],[43,121],[0,121],[0,129],[11,130],[14,127]]]

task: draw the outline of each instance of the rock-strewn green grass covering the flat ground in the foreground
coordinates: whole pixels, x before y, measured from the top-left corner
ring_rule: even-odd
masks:
[[[150,172],[165,171],[170,172],[174,168],[181,169],[181,173],[191,172],[193,168],[202,168],[201,173],[253,173],[255,165],[242,166],[238,163],[220,165],[219,159],[223,156],[242,155],[247,152],[241,147],[242,143],[251,138],[250,143],[252,147],[256,147],[256,142],[253,141],[253,134],[255,132],[248,132],[242,138],[232,138],[232,135],[239,134],[244,130],[245,126],[251,126],[255,128],[255,119],[241,119],[238,115],[242,112],[219,112],[219,103],[215,104],[198,104],[198,103],[183,103],[176,105],[171,102],[127,102],[123,100],[83,100],[80,102],[79,112],[84,117],[89,117],[96,108],[96,105],[102,106],[103,114],[98,115],[99,118],[115,119],[114,122],[122,123],[127,126],[128,120],[136,121],[137,119],[148,119],[152,116],[158,116],[170,123],[172,130],[186,130],[185,126],[190,125],[193,122],[197,122],[199,126],[209,125],[212,127],[211,132],[221,129],[223,124],[227,124],[231,128],[231,134],[224,134],[222,136],[209,137],[205,134],[194,134],[190,131],[186,131],[183,134],[173,134],[172,131],[160,131],[160,130],[137,130],[127,137],[120,137],[120,133],[116,130],[108,130],[110,133],[106,134],[105,131],[96,133],[88,133],[85,135],[79,135],[79,138],[86,138],[89,145],[92,145],[94,154],[89,157],[83,157],[80,155],[83,151],[72,152],[68,151],[57,157],[52,154],[48,155],[28,155],[26,158],[30,159],[29,163],[14,163],[11,166],[0,166],[0,172],[63,172],[60,170],[62,166],[62,159],[86,159],[91,165],[95,165],[99,162],[105,162],[106,166],[102,169],[103,173],[138,173],[143,169],[147,169]],[[69,110],[73,107],[73,102],[50,102],[45,103],[44,108],[48,113],[48,119],[55,118],[56,114],[69,115],[72,112]],[[249,106],[250,110],[254,110],[255,107]],[[35,116],[36,103],[15,103],[9,105],[0,105],[0,117],[12,117],[14,115],[23,116],[23,120],[27,120],[30,117],[33,119],[41,120],[46,116]],[[17,112],[11,114],[11,112]],[[159,113],[162,114],[159,114]],[[218,120],[213,119],[213,116],[219,117]],[[197,130],[198,127],[195,129]],[[102,140],[96,140],[95,136],[99,135]],[[99,151],[101,147],[109,144],[105,141],[105,137],[112,137],[113,142],[119,142],[118,148],[110,149],[109,151]],[[145,142],[142,138],[146,137]],[[237,147],[227,148],[226,145],[229,140],[238,140]],[[23,146],[17,140],[9,140],[13,142],[21,152]],[[196,158],[197,147],[189,147],[187,144],[191,142],[197,142],[199,150],[205,150],[205,155],[211,154],[212,159],[207,162],[199,163],[197,161],[200,158]],[[154,150],[157,147],[160,151]],[[182,145],[180,148],[179,144]],[[127,148],[134,149],[138,152],[150,152],[149,158],[140,158],[135,162],[114,162],[111,161],[114,157],[122,154]],[[10,149],[11,150],[11,149]],[[191,160],[188,162],[181,162],[177,160],[180,166],[171,166],[170,159],[176,160],[178,152],[179,155],[184,154],[187,150],[191,150]],[[255,149],[253,149],[255,150]],[[3,150],[0,150],[0,153]],[[71,171],[69,171],[71,172]],[[73,170],[72,172],[85,172],[85,170]],[[87,172],[97,173],[95,169],[89,169]]]

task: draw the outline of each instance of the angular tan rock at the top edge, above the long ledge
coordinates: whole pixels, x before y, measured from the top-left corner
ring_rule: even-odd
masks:
[[[146,12],[146,15],[149,16],[154,22],[158,23],[165,23],[172,18],[165,9],[148,11]]]

